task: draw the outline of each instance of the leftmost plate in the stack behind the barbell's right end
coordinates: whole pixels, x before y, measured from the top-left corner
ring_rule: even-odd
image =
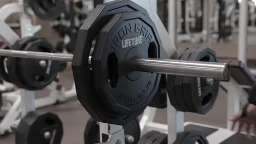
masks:
[[[177,50],[176,55],[173,57],[174,59],[180,59],[182,56],[182,53],[186,50],[188,50],[189,48],[184,47],[184,48],[179,48]],[[170,99],[170,103],[171,105],[178,111],[184,111],[177,102],[176,99],[176,94],[175,94],[175,87],[174,87],[174,83],[175,83],[175,79],[176,79],[176,75],[167,75],[167,92],[168,92],[168,97]]]

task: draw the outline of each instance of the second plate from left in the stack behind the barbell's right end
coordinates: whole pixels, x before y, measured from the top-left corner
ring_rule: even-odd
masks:
[[[182,61],[187,61],[189,56],[190,56],[190,52],[194,51],[196,48],[189,48],[186,51],[184,51],[181,55],[181,57],[179,58],[179,60]],[[184,89],[182,87],[183,85],[183,77],[184,76],[176,76],[175,80],[174,80],[174,93],[175,93],[175,98],[176,101],[179,105],[179,107],[181,107],[181,109],[184,112],[187,112],[189,107],[185,104],[185,98],[187,95],[183,95],[184,93]]]

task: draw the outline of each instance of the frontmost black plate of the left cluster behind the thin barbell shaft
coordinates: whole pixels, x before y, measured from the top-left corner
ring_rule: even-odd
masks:
[[[24,47],[25,51],[56,53],[54,47],[45,39],[37,38]],[[40,62],[44,62],[40,65]],[[56,77],[59,62],[46,61],[42,59],[21,58],[18,61],[20,77],[29,90],[43,89],[48,86]]]

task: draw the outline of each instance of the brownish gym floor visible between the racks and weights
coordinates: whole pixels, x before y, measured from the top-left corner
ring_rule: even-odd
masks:
[[[199,46],[202,44],[192,44],[192,46]],[[179,44],[177,47],[190,46],[191,44]],[[237,44],[228,43],[228,44],[212,44],[213,49],[217,50],[218,55],[223,57],[222,53],[228,54],[228,57],[233,57],[236,52]],[[249,52],[255,51],[253,49],[255,45],[249,45]],[[226,53],[229,51],[230,53]],[[254,52],[255,53],[255,52]],[[226,56],[225,56],[226,57]],[[255,61],[249,61],[249,67],[255,68]],[[72,70],[69,67],[65,72],[61,74],[61,83],[65,87],[71,87],[73,82]],[[36,97],[43,97],[47,95],[46,91],[39,91],[36,93]],[[185,121],[196,122],[202,124],[210,124],[216,127],[226,127],[226,93],[222,88],[219,89],[219,97],[214,105],[213,109],[207,115],[198,115],[194,113],[185,113]],[[62,139],[62,144],[70,144],[70,143],[84,143],[83,133],[85,129],[86,122],[90,118],[89,114],[84,110],[84,108],[79,105],[77,100],[71,99],[63,104],[53,105],[43,107],[39,109],[39,111],[44,112],[54,112],[61,118],[63,122],[64,135]],[[159,123],[166,124],[166,109],[158,110],[157,116],[155,117],[155,121]],[[14,134],[10,134],[7,136],[0,137],[0,143],[4,144],[13,144],[15,143]]]

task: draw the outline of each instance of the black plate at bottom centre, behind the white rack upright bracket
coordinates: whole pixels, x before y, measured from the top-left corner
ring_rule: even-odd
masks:
[[[137,144],[141,137],[141,129],[139,128],[138,118],[133,119],[131,122],[124,125],[125,143]],[[132,136],[133,142],[127,140],[126,136]],[[100,142],[100,127],[94,119],[90,118],[86,124],[84,131],[85,144],[99,143]]]

